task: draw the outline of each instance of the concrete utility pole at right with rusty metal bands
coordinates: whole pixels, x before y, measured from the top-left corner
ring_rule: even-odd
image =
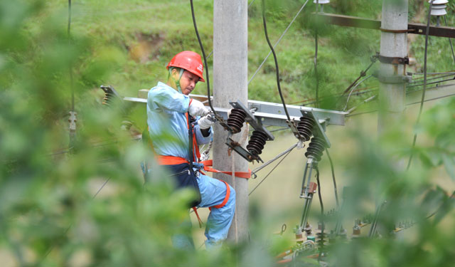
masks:
[[[407,56],[408,0],[383,0],[380,47],[378,132],[381,135],[402,119],[405,110],[406,65],[392,64]],[[392,59],[395,58],[395,59]]]

